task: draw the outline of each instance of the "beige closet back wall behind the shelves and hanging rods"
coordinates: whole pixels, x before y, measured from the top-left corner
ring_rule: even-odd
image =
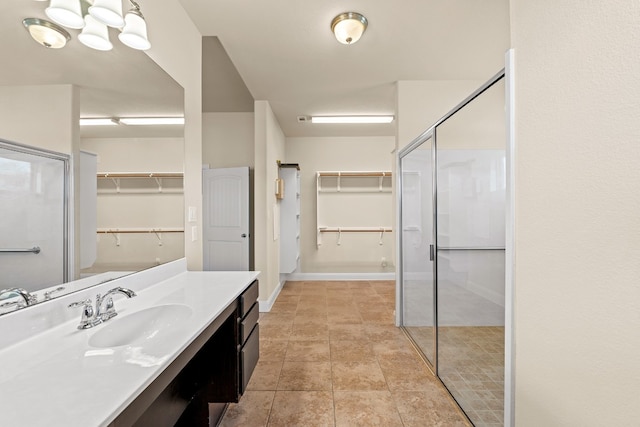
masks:
[[[314,137],[287,138],[287,163],[300,165],[300,201],[301,201],[301,272],[302,273],[361,273],[388,272],[394,270],[392,233],[383,236],[383,245],[379,245],[379,233],[344,233],[341,245],[337,246],[337,236],[325,233],[323,244],[316,246],[316,172],[317,171],[390,171],[393,167],[392,151],[394,137]],[[330,226],[386,226],[393,227],[392,212],[394,199],[391,193],[370,194],[371,209],[363,209],[353,218],[342,212],[340,203],[332,194],[323,194],[322,212],[326,221],[343,221]],[[362,195],[353,194],[353,199],[365,202]],[[345,200],[348,202],[348,199]],[[328,208],[328,209],[327,209]],[[330,211],[335,212],[333,218]],[[342,218],[344,217],[344,219]],[[350,222],[351,221],[351,222]],[[382,267],[381,259],[387,261]]]

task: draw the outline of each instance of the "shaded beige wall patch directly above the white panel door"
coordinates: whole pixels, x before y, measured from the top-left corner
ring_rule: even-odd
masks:
[[[211,168],[255,164],[253,113],[203,113],[202,162]]]

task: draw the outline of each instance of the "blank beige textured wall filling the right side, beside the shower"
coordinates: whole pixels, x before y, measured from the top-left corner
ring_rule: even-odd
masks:
[[[516,425],[637,425],[640,3],[510,5]]]

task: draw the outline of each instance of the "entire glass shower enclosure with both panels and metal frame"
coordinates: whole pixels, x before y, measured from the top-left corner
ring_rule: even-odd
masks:
[[[399,153],[400,323],[476,426],[503,425],[501,71]]]

